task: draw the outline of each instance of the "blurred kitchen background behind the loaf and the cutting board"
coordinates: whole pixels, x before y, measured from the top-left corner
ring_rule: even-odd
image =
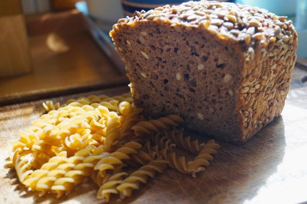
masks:
[[[179,0],[0,0],[0,106],[128,85],[109,31],[117,19]],[[230,0],[288,16],[307,69],[307,0]],[[303,83],[304,81],[302,81]],[[305,83],[306,84],[306,83]]]

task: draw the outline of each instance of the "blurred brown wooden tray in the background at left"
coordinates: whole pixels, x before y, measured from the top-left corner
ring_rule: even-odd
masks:
[[[0,106],[128,84],[76,10],[26,19],[33,72],[0,80]]]

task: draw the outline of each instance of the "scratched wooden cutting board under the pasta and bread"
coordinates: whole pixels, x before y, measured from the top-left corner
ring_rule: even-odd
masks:
[[[282,115],[261,130],[244,146],[218,141],[221,148],[211,166],[196,179],[168,169],[123,201],[111,203],[298,203],[307,201],[307,83],[306,72],[296,69]],[[307,74],[305,74],[307,75]],[[89,94],[116,95],[128,87],[53,98],[65,101]],[[42,100],[0,108],[0,203],[100,203],[98,188],[91,180],[68,195],[39,197],[27,192],[14,170],[5,169],[9,141],[18,130],[44,113]],[[198,135],[200,136],[200,135]],[[201,140],[208,138],[199,137]]]

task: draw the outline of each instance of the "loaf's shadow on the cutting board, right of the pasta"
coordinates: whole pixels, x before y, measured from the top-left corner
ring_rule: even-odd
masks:
[[[210,138],[198,139],[206,141]],[[169,169],[161,175],[160,180],[155,180],[154,188],[158,189],[155,192],[160,192],[159,195],[165,198],[161,201],[180,204],[243,203],[252,199],[266,180],[277,172],[282,162],[285,151],[282,116],[264,127],[243,146],[217,142],[221,148],[214,155],[206,173],[198,173],[194,179]]]

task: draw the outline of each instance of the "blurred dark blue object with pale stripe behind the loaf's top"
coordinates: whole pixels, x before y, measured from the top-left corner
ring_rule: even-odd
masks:
[[[145,10],[148,11],[150,9],[157,8],[159,6],[164,5],[179,5],[184,2],[189,1],[183,1],[183,0],[122,0],[122,8],[126,15],[132,16],[135,11],[141,11]],[[222,0],[219,2],[232,2],[235,3],[236,0]]]

